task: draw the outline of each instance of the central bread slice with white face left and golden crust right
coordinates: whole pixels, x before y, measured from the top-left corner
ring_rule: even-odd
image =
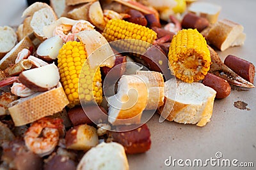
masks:
[[[108,121],[113,125],[140,124],[147,101],[147,83],[140,76],[122,76],[118,82],[117,94],[108,97]]]

